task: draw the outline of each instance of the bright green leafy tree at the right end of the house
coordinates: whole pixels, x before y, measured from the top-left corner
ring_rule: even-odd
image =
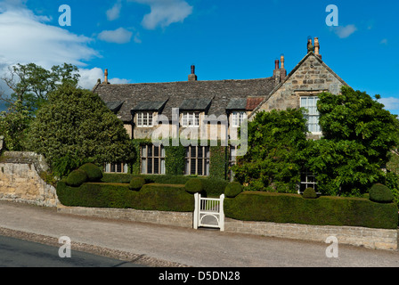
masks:
[[[382,169],[399,142],[395,115],[370,95],[347,86],[341,94],[320,94],[318,110],[323,137],[302,154],[316,175],[318,189],[360,196],[373,183],[384,183],[387,175]]]

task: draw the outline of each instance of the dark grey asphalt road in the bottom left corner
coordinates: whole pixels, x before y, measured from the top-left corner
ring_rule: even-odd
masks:
[[[62,248],[63,247],[63,248]],[[61,248],[61,257],[59,250]],[[104,256],[0,236],[0,267],[142,267]]]

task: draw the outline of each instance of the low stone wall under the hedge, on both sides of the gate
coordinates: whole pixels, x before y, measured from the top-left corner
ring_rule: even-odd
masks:
[[[94,216],[126,221],[163,224],[191,228],[193,213],[144,211],[118,208],[81,208],[59,206],[58,212],[77,216]],[[397,230],[371,229],[354,226],[326,226],[309,224],[276,224],[247,222],[226,218],[224,232],[254,234],[293,240],[326,242],[330,236],[338,239],[338,244],[346,244],[373,249],[397,249]]]

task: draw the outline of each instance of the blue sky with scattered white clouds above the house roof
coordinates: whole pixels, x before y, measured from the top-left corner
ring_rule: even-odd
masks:
[[[61,4],[71,25],[60,26]],[[338,27],[329,27],[329,4]],[[348,85],[399,114],[399,2],[310,0],[0,0],[0,73],[35,62],[69,62],[92,88],[111,83],[271,77],[285,56],[290,71],[319,37],[323,61]],[[0,84],[6,90],[4,84]]]

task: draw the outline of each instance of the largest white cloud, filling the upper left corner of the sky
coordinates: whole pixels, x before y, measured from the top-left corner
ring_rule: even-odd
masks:
[[[8,1],[12,2],[15,1]],[[68,62],[82,66],[85,60],[99,56],[88,46],[89,37],[48,25],[45,23],[47,17],[37,16],[23,7],[11,4],[3,7],[5,9],[0,13],[0,58],[4,58],[2,62],[7,65],[35,62],[50,68]]]

